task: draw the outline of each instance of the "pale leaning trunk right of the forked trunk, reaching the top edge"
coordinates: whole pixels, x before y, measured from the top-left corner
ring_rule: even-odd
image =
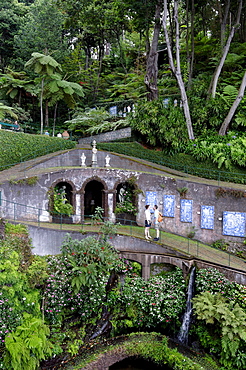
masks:
[[[239,22],[240,22],[241,11],[242,11],[242,1],[243,0],[239,0],[236,24],[234,26],[232,26],[231,32],[228,36],[227,42],[226,42],[225,47],[223,49],[223,53],[222,53],[219,65],[217,66],[217,68],[214,72],[214,75],[213,75],[213,78],[212,78],[212,81],[211,81],[211,84],[210,84],[210,87],[209,87],[208,96],[211,95],[212,98],[215,98],[218,79],[219,79],[222,67],[224,65],[224,62],[226,60],[227,54],[229,52],[231,41],[234,37],[235,32],[240,27]]]

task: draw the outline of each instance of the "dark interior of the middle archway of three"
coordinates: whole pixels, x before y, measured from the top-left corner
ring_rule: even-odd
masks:
[[[100,181],[91,180],[84,191],[84,216],[94,214],[96,207],[105,209],[104,186]]]

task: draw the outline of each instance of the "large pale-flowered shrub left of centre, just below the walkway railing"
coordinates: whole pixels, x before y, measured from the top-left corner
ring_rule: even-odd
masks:
[[[61,323],[71,313],[82,321],[98,315],[110,272],[124,268],[119,253],[103,237],[81,241],[67,237],[62,255],[48,257],[47,262],[45,316],[51,323]]]

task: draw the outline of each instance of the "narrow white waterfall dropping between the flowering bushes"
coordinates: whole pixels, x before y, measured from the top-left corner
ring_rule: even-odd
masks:
[[[185,345],[188,344],[188,333],[192,315],[191,300],[194,295],[195,270],[196,270],[195,266],[192,267],[187,291],[186,311],[184,313],[183,322],[178,334],[178,341]]]

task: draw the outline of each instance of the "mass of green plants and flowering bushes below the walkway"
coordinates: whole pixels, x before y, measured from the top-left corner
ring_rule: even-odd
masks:
[[[187,282],[181,270],[144,281],[134,264],[119,258],[108,243],[115,225],[104,223],[99,238],[68,237],[60,255],[47,257],[32,255],[24,226],[7,224],[5,232],[0,241],[0,368],[36,369],[44,359],[55,356],[59,362],[64,353],[70,359],[77,354],[83,358],[88,345],[109,333],[154,330],[177,335],[186,303]],[[124,284],[119,279],[122,274]],[[229,282],[216,270],[199,270],[194,302],[197,316],[191,340],[213,353],[220,368],[245,367],[245,287]],[[140,344],[134,353],[157,362],[174,357],[183,361],[165,343],[156,349],[150,346],[149,357]],[[164,357],[159,357],[163,346]],[[133,351],[133,346],[128,350]],[[186,361],[191,369],[199,368]],[[181,365],[177,362],[176,366]]]

